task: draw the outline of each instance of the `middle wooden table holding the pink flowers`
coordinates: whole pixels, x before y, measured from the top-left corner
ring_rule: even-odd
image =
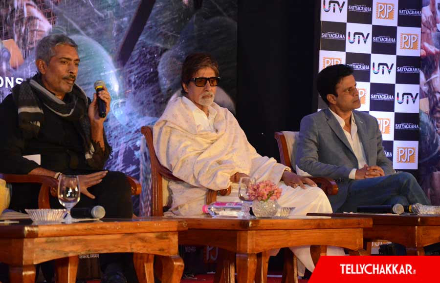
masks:
[[[254,279],[256,282],[266,281],[267,265],[262,274],[256,275],[257,260],[262,260],[257,254],[261,256],[271,249],[301,245],[320,245],[322,255],[326,253],[327,245],[361,250],[363,229],[372,225],[368,218],[307,216],[251,220],[209,216],[182,219],[187,222],[188,230],[179,232],[179,244],[217,246],[236,253],[239,283],[253,283]],[[234,282],[234,259],[229,262],[227,274],[221,276],[225,282]],[[216,274],[216,281],[221,281],[218,276],[220,274]]]

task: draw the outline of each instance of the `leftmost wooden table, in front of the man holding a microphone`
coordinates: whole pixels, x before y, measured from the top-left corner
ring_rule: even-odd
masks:
[[[105,219],[97,222],[34,225],[31,220],[0,224],[0,262],[11,283],[34,283],[34,264],[55,260],[56,281],[74,283],[79,254],[132,252],[140,283],[152,283],[154,255],[162,256],[164,281],[179,283],[183,261],[177,233],[186,223],[163,218]],[[0,222],[1,223],[1,222]]]

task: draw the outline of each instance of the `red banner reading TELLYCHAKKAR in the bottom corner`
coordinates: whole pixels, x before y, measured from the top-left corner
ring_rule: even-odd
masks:
[[[431,282],[439,266],[435,256],[323,256],[309,283]]]

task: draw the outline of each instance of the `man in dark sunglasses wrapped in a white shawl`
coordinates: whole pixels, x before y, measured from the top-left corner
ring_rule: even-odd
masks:
[[[214,102],[219,81],[218,63],[210,55],[189,55],[182,65],[183,96],[169,101],[154,125],[159,162],[184,181],[168,183],[173,199],[171,211],[180,216],[202,214],[208,189],[231,187],[231,194],[218,196],[217,201],[239,202],[237,182],[241,177],[251,177],[278,184],[282,189],[278,203],[295,207],[291,215],[331,213],[327,196],[313,181],[257,153],[232,113]],[[313,271],[309,246],[291,250]],[[344,252],[329,247],[328,254]]]

